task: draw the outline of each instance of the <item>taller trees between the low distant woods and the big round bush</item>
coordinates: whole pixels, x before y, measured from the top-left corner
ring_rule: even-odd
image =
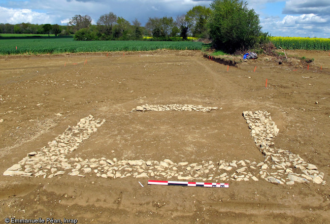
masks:
[[[207,18],[210,8],[195,6],[186,14],[173,17],[149,17],[145,26],[135,19],[130,23],[113,12],[99,17],[97,25],[92,25],[88,15],[73,16],[68,25],[75,33],[76,40],[138,40],[143,36],[152,36],[156,40],[171,40],[172,37],[188,36],[208,38]]]

